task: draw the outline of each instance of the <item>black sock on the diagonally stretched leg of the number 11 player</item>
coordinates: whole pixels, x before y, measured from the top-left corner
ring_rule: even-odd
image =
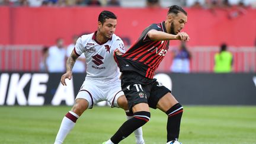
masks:
[[[119,143],[121,140],[129,136],[133,131],[143,126],[150,120],[151,114],[148,111],[136,112],[132,119],[127,120],[117,130],[117,132],[111,137],[113,143]]]

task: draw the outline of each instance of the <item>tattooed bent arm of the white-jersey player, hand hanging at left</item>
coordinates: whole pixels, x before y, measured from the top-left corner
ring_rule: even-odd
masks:
[[[79,56],[75,54],[75,52],[73,51],[71,53],[71,55],[68,57],[68,60],[66,62],[66,73],[64,75],[62,75],[60,82],[62,83],[62,85],[66,85],[65,79],[71,79],[72,77],[72,68],[73,65],[75,65],[75,61]]]

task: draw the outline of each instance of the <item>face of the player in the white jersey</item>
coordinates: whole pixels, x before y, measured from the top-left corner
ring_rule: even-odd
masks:
[[[117,25],[116,19],[108,18],[108,19],[105,19],[104,24],[101,24],[99,22],[98,30],[106,39],[110,39],[110,37],[112,37],[112,35],[114,34],[114,31],[116,31],[116,25]]]

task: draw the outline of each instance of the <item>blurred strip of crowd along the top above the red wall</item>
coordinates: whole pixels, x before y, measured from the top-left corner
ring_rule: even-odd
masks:
[[[134,5],[127,5],[132,3]],[[145,7],[165,7],[165,4],[177,4],[183,7],[192,8],[256,8],[256,0],[0,0],[0,5],[7,6],[93,6],[93,7],[140,7],[143,3]]]

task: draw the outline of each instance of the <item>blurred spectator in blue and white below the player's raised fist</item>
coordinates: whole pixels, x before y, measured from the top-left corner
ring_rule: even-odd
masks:
[[[181,45],[177,50],[174,50],[172,57],[171,72],[190,72],[191,53],[187,50],[187,46],[184,41],[181,41]]]

